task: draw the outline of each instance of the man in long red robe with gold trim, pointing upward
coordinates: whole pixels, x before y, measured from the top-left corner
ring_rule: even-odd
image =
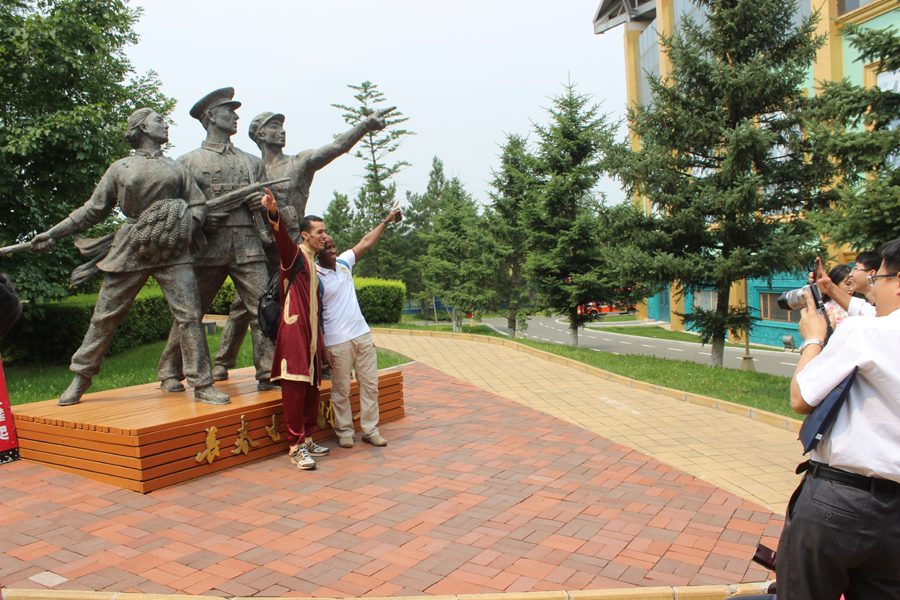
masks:
[[[297,468],[316,468],[314,456],[326,456],[328,448],[312,439],[319,416],[319,384],[323,359],[331,364],[322,335],[322,306],[315,257],[325,241],[325,223],[313,215],[300,223],[297,244],[291,239],[278,212],[272,192],[262,198],[280,257],[281,301],[271,381],[281,380],[284,423],[291,446],[291,462]],[[293,275],[293,280],[291,279]]]

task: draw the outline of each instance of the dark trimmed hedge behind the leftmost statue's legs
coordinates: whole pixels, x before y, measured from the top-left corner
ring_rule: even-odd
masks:
[[[97,294],[85,294],[29,306],[0,341],[3,362],[68,362],[84,340],[96,303]],[[116,329],[107,355],[166,339],[172,321],[162,291],[156,286],[145,287]]]

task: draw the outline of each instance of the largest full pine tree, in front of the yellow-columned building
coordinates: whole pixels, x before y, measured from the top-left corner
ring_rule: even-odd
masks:
[[[825,209],[833,170],[809,158],[803,85],[822,40],[817,16],[793,24],[785,0],[695,0],[706,22],[685,17],[660,44],[668,78],[650,76],[650,104],[629,111],[641,149],[620,144],[610,161],[632,198],[654,209],[658,232],[615,254],[635,277],[712,288],[713,310],[681,315],[722,364],[727,331],[748,331],[732,284],[796,271],[817,238],[803,211]]]

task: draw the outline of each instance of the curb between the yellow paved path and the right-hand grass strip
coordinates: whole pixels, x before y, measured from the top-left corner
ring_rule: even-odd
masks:
[[[385,329],[380,327],[373,327],[372,333],[437,337],[480,342],[482,344],[494,344],[497,346],[506,346],[507,348],[512,348],[513,350],[517,350],[519,352],[531,354],[532,356],[543,358],[544,360],[548,360],[550,362],[572,367],[573,369],[583,371],[588,375],[594,375],[595,377],[600,377],[608,381],[615,381],[616,383],[621,383],[635,389],[654,392],[656,394],[668,396],[669,398],[674,398],[676,400],[683,400],[684,402],[690,402],[691,404],[699,404],[700,406],[706,406],[707,408],[714,408],[716,410],[721,410],[733,415],[746,417],[748,419],[753,419],[754,421],[759,421],[760,423],[765,423],[766,425],[777,427],[778,429],[786,429],[787,431],[799,433],[800,426],[803,425],[803,421],[792,419],[784,415],[777,415],[766,410],[759,410],[757,408],[744,406],[743,404],[736,404],[727,400],[719,400],[718,398],[710,398],[709,396],[701,396],[700,394],[692,394],[690,392],[675,390],[661,385],[645,383],[643,381],[638,381],[637,379],[625,377],[624,375],[610,373],[609,371],[604,371],[603,369],[598,369],[597,367],[592,367],[590,365],[584,364],[583,362],[572,360],[558,354],[552,354],[543,350],[537,350],[536,348],[520,344],[519,342],[515,342],[513,340],[504,340],[501,338],[491,337],[487,335],[476,335],[473,333],[451,333],[449,331],[417,331],[415,329]]]

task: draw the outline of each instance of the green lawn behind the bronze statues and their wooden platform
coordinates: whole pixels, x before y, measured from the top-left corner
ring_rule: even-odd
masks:
[[[208,335],[210,355],[219,345],[221,330]],[[100,392],[120,387],[140,385],[156,381],[156,366],[165,342],[147,344],[127,352],[109,356],[103,361],[100,374],[94,378],[89,392]],[[378,368],[385,369],[409,362],[395,352],[378,350]],[[253,365],[253,347],[250,336],[244,340],[238,355],[237,368]],[[72,372],[65,365],[3,365],[6,387],[12,404],[27,404],[39,400],[58,398],[72,381]]]

